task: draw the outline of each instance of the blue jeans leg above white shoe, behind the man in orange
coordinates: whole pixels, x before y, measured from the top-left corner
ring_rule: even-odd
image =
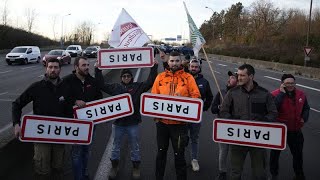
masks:
[[[190,131],[191,139],[191,158],[199,158],[199,132],[200,132],[200,123],[190,123],[188,124],[188,129]]]

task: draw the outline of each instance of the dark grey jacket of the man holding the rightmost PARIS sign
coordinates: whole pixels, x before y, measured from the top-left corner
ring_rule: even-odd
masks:
[[[254,88],[249,92],[242,86],[228,91],[220,109],[220,117],[274,122],[277,108],[271,93],[254,82]]]

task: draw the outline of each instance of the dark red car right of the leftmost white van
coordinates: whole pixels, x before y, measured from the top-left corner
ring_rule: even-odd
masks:
[[[50,59],[58,59],[60,62],[60,65],[68,63],[71,63],[71,56],[70,54],[63,49],[54,49],[51,50],[48,54],[46,54],[43,58],[42,58],[42,64],[44,66],[46,66],[47,61]]]

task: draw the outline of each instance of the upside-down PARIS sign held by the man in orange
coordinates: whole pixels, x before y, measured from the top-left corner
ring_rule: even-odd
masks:
[[[140,113],[145,116],[200,123],[203,101],[198,98],[143,93]]]

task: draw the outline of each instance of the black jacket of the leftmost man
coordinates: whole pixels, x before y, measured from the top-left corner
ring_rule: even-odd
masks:
[[[52,84],[46,77],[31,84],[12,103],[13,125],[20,124],[22,109],[30,102],[33,102],[33,114],[73,117],[70,90],[65,81],[61,79],[58,79],[57,85]]]

